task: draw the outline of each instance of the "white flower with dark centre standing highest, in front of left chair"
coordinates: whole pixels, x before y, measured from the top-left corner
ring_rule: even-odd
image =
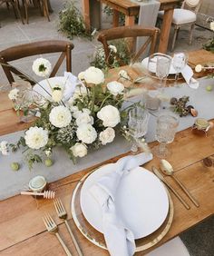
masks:
[[[38,76],[48,76],[51,74],[52,71],[52,64],[44,59],[44,58],[38,58],[34,60],[34,64],[32,66],[34,74],[37,74]]]

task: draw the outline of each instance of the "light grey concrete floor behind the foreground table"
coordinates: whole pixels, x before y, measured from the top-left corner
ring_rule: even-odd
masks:
[[[0,51],[16,44],[25,44],[34,41],[46,39],[66,39],[62,33],[58,32],[58,13],[63,8],[63,1],[51,0],[53,13],[50,15],[51,22],[40,15],[38,9],[29,7],[29,25],[23,25],[20,20],[15,20],[12,8],[8,11],[5,6],[0,7]],[[76,6],[81,10],[81,1],[76,1]],[[102,15],[102,28],[111,27],[111,18]],[[188,27],[180,31],[179,38],[176,42],[175,51],[177,50],[190,50],[200,48],[211,36],[208,30],[197,27],[194,31],[193,44],[188,44]],[[73,39],[73,74],[79,74],[81,71],[89,66],[90,59],[94,52],[94,47],[97,43],[96,39],[89,41],[82,38]],[[56,55],[52,55],[49,60],[53,62]],[[19,60],[15,62],[27,74],[32,73],[32,62],[34,57]],[[63,74],[63,68],[59,74]],[[0,69],[0,84],[7,86],[5,74]]]

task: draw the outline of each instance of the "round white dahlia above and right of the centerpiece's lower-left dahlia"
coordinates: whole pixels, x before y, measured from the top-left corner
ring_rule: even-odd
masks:
[[[72,113],[65,106],[56,106],[49,113],[49,120],[55,127],[63,128],[71,123]]]

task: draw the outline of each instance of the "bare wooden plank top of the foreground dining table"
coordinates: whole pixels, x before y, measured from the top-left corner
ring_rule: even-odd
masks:
[[[197,64],[199,60],[195,59],[195,54],[192,55],[194,56],[192,64]],[[12,109],[12,104],[7,98],[7,93],[1,93],[0,135],[23,130],[29,125],[29,123],[19,123],[19,117]],[[150,143],[150,147],[152,148],[156,144],[157,142]],[[199,222],[203,222],[214,213],[214,201],[212,200],[212,195],[214,193],[214,167],[212,166],[208,168],[203,164],[204,158],[214,156],[214,129],[210,129],[207,136],[199,136],[192,133],[191,127],[180,131],[176,134],[174,142],[170,144],[170,148],[173,150],[173,153],[168,160],[174,168],[175,175],[198,200],[199,208],[190,202],[190,199],[180,190],[180,187],[173,182],[171,177],[166,176],[165,178],[170,182],[171,186],[173,186],[186,202],[190,204],[190,210],[184,208],[174,194],[171,194],[174,205],[174,217],[170,226],[170,231],[168,231],[155,246],[146,251],[136,252],[135,255],[144,255],[146,252],[169,241],[181,232],[189,230]],[[83,251],[83,255],[85,256],[109,254],[108,251],[105,251],[92,244],[91,241],[88,241],[73,222],[73,216],[70,210],[73,190],[86,173],[91,172],[105,163],[116,162],[122,156],[128,154],[131,153],[128,152],[122,155],[117,155],[108,161],[99,162],[95,166],[79,170],[77,173],[49,184],[49,189],[53,190],[57,197],[61,198],[68,212],[68,222]],[[146,169],[151,170],[152,165],[159,167],[160,159],[154,157],[151,162],[148,162],[143,166]],[[0,164],[0,172],[3,171],[4,170],[1,170]],[[74,256],[78,255],[63,221],[57,218],[53,207],[53,201],[40,199],[35,202],[33,197],[20,194],[0,202],[0,254],[64,255],[63,248],[59,245],[56,237],[48,233],[44,227],[42,217],[45,212],[49,212],[53,216],[55,222],[57,222],[63,241],[65,241],[72,254]]]

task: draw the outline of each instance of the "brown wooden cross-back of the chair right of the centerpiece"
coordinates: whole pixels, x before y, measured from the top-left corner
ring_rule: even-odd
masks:
[[[138,36],[148,37],[145,43],[141,45],[140,50],[132,58],[131,62],[134,63],[146,50],[149,44],[151,44],[150,54],[155,52],[155,46],[159,32],[160,29],[157,27],[144,27],[141,25],[119,26],[103,30],[100,34],[98,34],[97,40],[102,43],[105,52],[105,60],[108,62],[109,55],[111,53],[108,41],[126,37],[132,37],[135,39]]]

